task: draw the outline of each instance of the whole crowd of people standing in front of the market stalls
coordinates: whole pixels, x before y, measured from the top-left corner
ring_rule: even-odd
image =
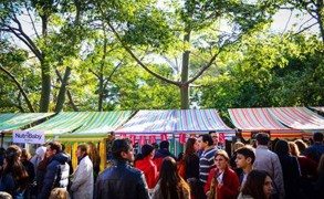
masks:
[[[159,147],[145,144],[135,155],[129,139],[115,139],[113,161],[101,174],[93,144],[77,146],[75,170],[60,143],[39,147],[33,157],[11,145],[0,150],[0,198],[324,198],[322,133],[314,134],[310,146],[301,139],[271,143],[259,133],[253,145],[236,143],[231,156],[218,139],[216,132],[192,136],[178,158],[168,140]]]

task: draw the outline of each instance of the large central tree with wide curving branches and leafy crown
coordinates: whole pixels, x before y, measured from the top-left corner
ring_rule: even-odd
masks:
[[[189,107],[189,85],[208,70],[218,55],[239,41],[242,35],[260,29],[273,14],[268,1],[93,1],[100,17],[106,22],[129,55],[155,77],[179,87],[181,108]],[[230,32],[220,30],[227,23]],[[180,74],[176,80],[155,72],[138,57],[144,49],[154,54],[181,54]],[[190,57],[201,51],[210,53],[196,72]],[[178,76],[177,76],[178,75]]]

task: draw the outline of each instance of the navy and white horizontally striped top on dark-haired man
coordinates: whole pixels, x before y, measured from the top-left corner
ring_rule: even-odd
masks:
[[[212,147],[203,151],[199,159],[199,180],[203,184],[207,182],[208,174],[210,169],[215,166],[215,154],[217,148]]]

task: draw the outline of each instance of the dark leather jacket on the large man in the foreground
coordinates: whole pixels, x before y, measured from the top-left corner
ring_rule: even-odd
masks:
[[[95,199],[148,199],[148,188],[143,171],[126,161],[114,160],[97,178]]]

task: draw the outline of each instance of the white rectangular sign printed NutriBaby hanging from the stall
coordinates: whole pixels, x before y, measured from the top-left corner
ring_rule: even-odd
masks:
[[[12,134],[13,143],[44,144],[43,132],[15,130]]]

